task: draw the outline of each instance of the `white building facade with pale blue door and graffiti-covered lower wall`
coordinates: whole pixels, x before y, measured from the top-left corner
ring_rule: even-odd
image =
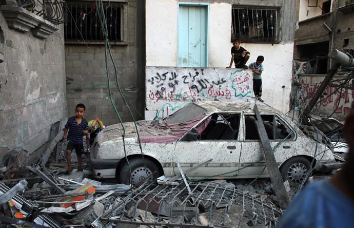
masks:
[[[223,100],[227,91],[232,101],[251,97],[252,83],[248,88],[232,86],[240,83],[234,81],[238,76],[245,80],[248,74],[251,81],[251,71],[225,68],[233,38],[251,53],[247,65],[264,56],[262,98],[287,111],[295,9],[293,1],[147,0],[146,119],[160,118],[193,100]]]

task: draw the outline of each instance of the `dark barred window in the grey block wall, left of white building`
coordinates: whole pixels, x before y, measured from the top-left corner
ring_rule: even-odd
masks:
[[[64,34],[66,41],[104,41],[101,20],[94,2],[67,2]],[[122,41],[123,5],[103,4],[109,41]],[[102,15],[101,15],[102,16]]]

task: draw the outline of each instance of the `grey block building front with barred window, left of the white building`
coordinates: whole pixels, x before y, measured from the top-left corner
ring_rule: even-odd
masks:
[[[111,125],[119,123],[119,118],[122,122],[132,121],[131,116],[144,119],[144,1],[103,2],[113,61],[105,47],[95,2],[67,4],[64,33],[68,115],[73,116],[76,104],[83,103],[88,121],[98,117],[105,125]],[[115,72],[125,101],[116,86]]]

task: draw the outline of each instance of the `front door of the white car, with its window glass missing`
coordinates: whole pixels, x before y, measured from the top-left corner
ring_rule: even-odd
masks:
[[[214,113],[209,116],[207,127],[198,132],[193,141],[182,137],[175,147],[175,154],[183,170],[196,166],[209,159],[210,163],[193,170],[188,175],[192,178],[215,176],[217,178],[238,175],[242,136],[240,135],[240,113]],[[188,135],[188,132],[187,134]],[[180,170],[173,159],[173,170]]]

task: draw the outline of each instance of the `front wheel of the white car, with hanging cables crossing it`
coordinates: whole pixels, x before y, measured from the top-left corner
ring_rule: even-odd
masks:
[[[122,165],[122,168],[120,170],[120,174],[118,177],[118,181],[123,184],[128,184],[128,185],[132,184],[132,186],[134,186],[135,184],[139,183],[140,181],[142,181],[144,178],[146,178],[147,176],[149,176],[150,174],[152,174],[155,171],[156,171],[156,173],[152,176],[152,180],[159,178],[161,175],[160,175],[158,166],[150,159],[145,158],[144,160],[145,160],[147,172],[145,171],[145,165],[144,165],[144,161],[142,158],[139,158],[139,157],[132,158],[132,159],[129,159],[129,165],[130,165],[132,178],[133,178],[132,181],[131,181],[131,177],[130,177],[129,165],[127,162],[125,162]],[[146,173],[148,173],[148,175],[146,175]],[[149,179],[146,179],[144,182],[148,182],[148,181],[149,181]],[[144,182],[142,182],[142,183],[144,183]],[[139,185],[141,185],[141,184],[139,184]]]

